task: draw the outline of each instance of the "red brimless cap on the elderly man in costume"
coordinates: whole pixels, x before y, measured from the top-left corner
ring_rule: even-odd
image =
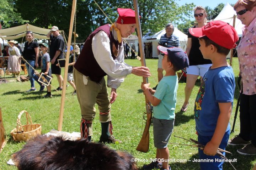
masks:
[[[135,24],[135,12],[130,8],[117,8],[119,17],[117,23],[119,24]],[[140,16],[139,16],[140,17]]]

